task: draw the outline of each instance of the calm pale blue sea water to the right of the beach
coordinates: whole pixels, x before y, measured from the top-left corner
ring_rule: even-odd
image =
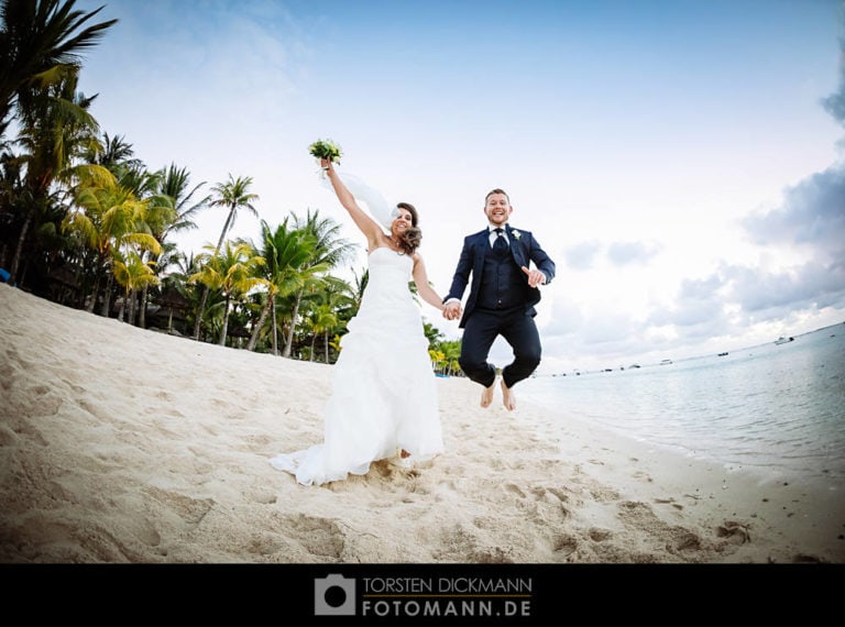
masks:
[[[560,420],[762,479],[845,482],[845,323],[721,356],[538,375],[519,387]]]

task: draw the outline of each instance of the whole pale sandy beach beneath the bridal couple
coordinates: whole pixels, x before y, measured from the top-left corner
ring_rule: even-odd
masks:
[[[0,285],[3,563],[845,562],[843,495],[760,482],[438,378],[446,452],[306,487],[331,366]]]

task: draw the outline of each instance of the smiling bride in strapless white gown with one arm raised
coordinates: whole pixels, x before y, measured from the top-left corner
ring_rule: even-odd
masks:
[[[366,238],[370,279],[341,339],[325,409],[323,442],[270,460],[304,485],[366,474],[371,462],[383,459],[413,468],[443,450],[428,340],[408,287],[413,277],[419,296],[443,310],[417,252],[421,239],[417,210],[406,202],[392,209],[361,180],[345,174],[341,178],[331,161],[320,164],[340,204]]]

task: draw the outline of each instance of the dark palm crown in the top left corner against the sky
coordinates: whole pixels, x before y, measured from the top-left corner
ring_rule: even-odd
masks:
[[[36,78],[50,81],[61,66],[79,66],[92,47],[117,23],[109,20],[83,30],[103,8],[74,11],[76,0],[3,0],[0,4],[0,136],[21,92]]]

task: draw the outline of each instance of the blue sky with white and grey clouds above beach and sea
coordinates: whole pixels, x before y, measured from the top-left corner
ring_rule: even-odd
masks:
[[[318,210],[365,240],[308,146],[417,207],[429,279],[505,189],[557,264],[538,373],[739,350],[845,321],[842,0],[78,0],[101,130],[210,193],[250,176],[259,240]],[[216,243],[209,209],[176,239]],[[345,273],[345,274],[344,274]],[[464,295],[465,296],[465,295]],[[448,339],[457,321],[422,305]],[[492,361],[509,351],[497,341]]]

